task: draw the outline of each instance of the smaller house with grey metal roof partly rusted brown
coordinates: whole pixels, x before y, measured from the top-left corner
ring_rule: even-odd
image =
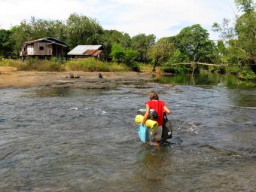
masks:
[[[105,59],[104,52],[102,45],[78,45],[69,51],[68,56],[70,59],[86,59],[88,57]]]

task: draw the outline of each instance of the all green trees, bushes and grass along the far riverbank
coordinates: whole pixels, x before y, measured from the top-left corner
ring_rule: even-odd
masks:
[[[218,41],[209,39],[209,32],[199,24],[184,27],[175,36],[156,40],[154,34],[139,34],[132,38],[125,32],[103,29],[90,17],[71,14],[66,21],[41,20],[32,17],[9,30],[0,29],[0,58],[17,59],[24,41],[53,37],[66,41],[66,53],[78,44],[101,44],[105,60],[67,61],[29,59],[27,62],[0,60],[0,66],[17,66],[18,70],[84,72],[161,71],[198,73],[200,70],[234,74],[246,81],[256,81],[255,5],[252,0],[235,0],[241,15],[236,20],[213,23]],[[220,66],[177,65],[178,63],[215,63]],[[221,65],[230,66],[221,66]]]

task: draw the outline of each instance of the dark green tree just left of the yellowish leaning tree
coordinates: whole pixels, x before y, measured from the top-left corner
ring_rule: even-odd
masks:
[[[132,38],[131,47],[139,52],[139,62],[148,62],[148,50],[155,44],[155,35],[139,34]]]

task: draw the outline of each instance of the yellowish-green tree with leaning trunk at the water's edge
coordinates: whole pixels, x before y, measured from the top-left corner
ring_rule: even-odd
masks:
[[[161,62],[165,62],[174,50],[175,47],[168,38],[160,38],[148,52],[148,56],[153,60],[154,64],[152,72],[155,72],[156,67],[160,66]]]

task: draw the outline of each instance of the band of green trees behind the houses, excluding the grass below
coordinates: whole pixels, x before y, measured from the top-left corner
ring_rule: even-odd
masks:
[[[96,19],[71,14],[66,21],[32,17],[9,30],[0,29],[0,56],[17,58],[23,42],[53,37],[66,41],[66,53],[78,44],[101,44],[109,61],[131,67],[152,63],[155,69],[178,62],[255,64],[255,5],[252,0],[235,2],[243,14],[234,22],[224,19],[223,23],[213,23],[212,30],[220,34],[218,41],[209,39],[209,32],[199,24],[181,29],[178,35],[157,40],[154,34],[130,37],[126,32],[106,30]],[[182,71],[183,67],[173,66],[171,71]]]

